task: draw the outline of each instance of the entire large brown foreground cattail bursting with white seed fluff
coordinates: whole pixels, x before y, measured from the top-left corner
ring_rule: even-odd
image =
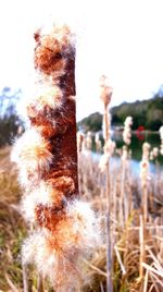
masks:
[[[50,278],[57,291],[74,291],[86,280],[82,257],[98,239],[95,214],[78,193],[74,35],[53,25],[36,32],[35,40],[37,95],[27,100],[30,126],[13,151],[25,192],[23,215],[36,227],[24,243],[23,263],[34,263],[39,279]]]

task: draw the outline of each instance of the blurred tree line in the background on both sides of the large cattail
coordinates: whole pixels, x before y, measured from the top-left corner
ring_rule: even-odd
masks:
[[[16,104],[22,96],[21,89],[4,87],[0,94],[0,147],[11,145],[18,133],[22,122],[16,113]],[[133,130],[143,126],[145,130],[158,131],[163,124],[163,87],[148,100],[123,102],[111,108],[112,125],[123,126],[127,115],[134,119]],[[78,122],[84,132],[102,130],[102,114],[95,112]]]

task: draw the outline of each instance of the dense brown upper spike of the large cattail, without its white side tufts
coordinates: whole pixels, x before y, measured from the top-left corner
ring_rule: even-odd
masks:
[[[39,36],[35,49],[35,66],[43,75],[52,76],[52,82],[58,87],[53,99],[61,97],[61,106],[46,108],[39,117],[30,118],[32,124],[40,126],[42,135],[50,136],[53,144],[54,162],[46,180],[52,177],[68,175],[73,179],[75,188],[73,194],[78,194],[77,182],[77,149],[76,149],[76,120],[75,100],[75,49],[71,42],[72,34],[67,26],[53,27],[51,34]],[[61,94],[60,94],[60,92]],[[41,100],[38,99],[38,104]],[[47,129],[47,131],[46,131]],[[52,131],[53,129],[53,131]],[[72,194],[72,195],[73,195]]]

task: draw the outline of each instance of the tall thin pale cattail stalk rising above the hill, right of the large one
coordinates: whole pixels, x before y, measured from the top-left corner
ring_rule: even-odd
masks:
[[[101,99],[104,105],[103,113],[103,137],[104,137],[104,156],[105,156],[105,197],[106,197],[106,291],[113,291],[112,282],[112,240],[111,240],[111,185],[110,185],[110,163],[109,157],[112,155],[112,141],[110,138],[110,115],[109,104],[111,101],[112,88],[108,86],[105,76],[101,77]]]

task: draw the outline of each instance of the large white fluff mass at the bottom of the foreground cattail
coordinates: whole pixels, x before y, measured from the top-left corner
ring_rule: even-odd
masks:
[[[77,287],[84,280],[83,259],[100,243],[98,220],[88,203],[67,204],[66,217],[58,223],[54,234],[42,229],[26,240],[23,260],[35,263],[43,277],[62,285],[62,291]]]

